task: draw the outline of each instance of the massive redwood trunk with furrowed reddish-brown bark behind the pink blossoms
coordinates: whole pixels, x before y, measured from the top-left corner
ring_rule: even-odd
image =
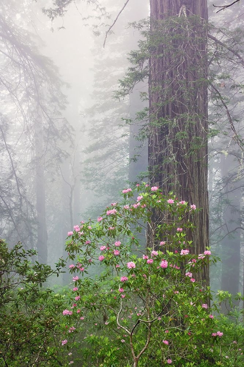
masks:
[[[188,233],[208,246],[207,0],[150,0],[149,177],[201,211]],[[208,267],[202,279],[209,284]]]

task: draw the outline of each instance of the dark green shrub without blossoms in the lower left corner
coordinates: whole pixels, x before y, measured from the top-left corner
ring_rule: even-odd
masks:
[[[1,367],[57,367],[66,360],[67,353],[58,347],[66,302],[61,294],[42,287],[62,273],[64,262],[53,270],[34,262],[36,256],[20,244],[8,249],[0,240]]]

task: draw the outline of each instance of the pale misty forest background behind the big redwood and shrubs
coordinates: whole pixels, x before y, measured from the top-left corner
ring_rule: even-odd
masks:
[[[106,34],[124,1],[101,3],[70,1],[53,14],[51,0],[0,0],[0,238],[50,265],[67,257],[74,225],[147,176],[146,76],[121,91],[149,27],[134,22],[149,17],[149,4],[129,1]],[[209,234],[222,259],[210,279],[214,290],[236,293],[244,287],[244,6],[216,14],[212,4],[224,1],[208,3]]]

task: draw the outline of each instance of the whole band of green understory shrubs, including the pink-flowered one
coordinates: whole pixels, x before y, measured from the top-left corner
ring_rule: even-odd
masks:
[[[1,241],[0,366],[243,366],[243,298],[211,293],[202,274],[218,259],[187,240],[199,210],[157,186],[124,189],[68,233],[71,285],[55,292],[63,260],[52,270]]]

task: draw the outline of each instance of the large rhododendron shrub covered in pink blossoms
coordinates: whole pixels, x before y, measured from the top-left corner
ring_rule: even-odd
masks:
[[[157,186],[136,191],[124,189],[121,203],[69,232],[73,297],[60,347],[79,367],[230,366],[210,291],[197,281],[216,259],[208,248],[191,253],[186,237],[198,209]],[[161,219],[153,223],[155,208]],[[101,275],[89,277],[91,266]]]

